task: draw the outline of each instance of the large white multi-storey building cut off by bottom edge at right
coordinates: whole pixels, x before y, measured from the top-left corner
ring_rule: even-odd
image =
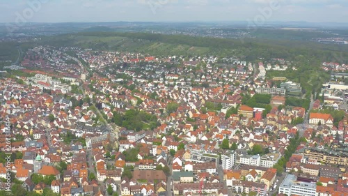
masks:
[[[297,181],[295,175],[287,174],[284,181],[279,186],[278,193],[283,193],[288,196],[314,196],[316,195],[316,190],[317,185],[315,183]]]

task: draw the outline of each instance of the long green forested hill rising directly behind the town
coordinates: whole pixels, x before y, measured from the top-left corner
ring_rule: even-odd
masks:
[[[348,61],[348,45],[322,45],[313,42],[265,39],[223,39],[152,33],[81,32],[44,38],[56,46],[90,47],[95,50],[145,52],[154,55],[246,56],[259,58]]]

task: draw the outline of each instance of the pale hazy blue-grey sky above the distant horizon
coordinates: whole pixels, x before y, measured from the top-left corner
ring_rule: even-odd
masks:
[[[0,22],[348,22],[348,0],[0,0]]]

